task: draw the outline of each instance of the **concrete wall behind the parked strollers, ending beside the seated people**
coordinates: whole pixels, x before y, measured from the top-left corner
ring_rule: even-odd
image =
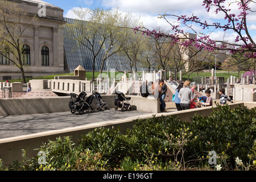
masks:
[[[86,98],[89,94],[86,96]],[[110,108],[114,108],[114,95],[101,95]],[[129,103],[133,105],[134,110],[148,111],[150,113],[159,113],[160,105],[158,100],[148,100],[141,96],[131,97]],[[41,97],[41,98],[2,98],[0,99],[0,115],[20,115],[36,113],[57,113],[70,111],[68,102],[70,96],[65,97]],[[93,101],[92,107],[96,109]]]

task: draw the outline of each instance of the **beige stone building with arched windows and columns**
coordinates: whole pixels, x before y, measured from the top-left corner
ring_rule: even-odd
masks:
[[[38,15],[45,7],[45,15],[39,17],[39,27],[29,28],[23,34],[24,56],[28,66],[26,77],[64,73],[63,9],[40,0],[9,0],[19,3],[28,13]],[[42,3],[42,4],[40,4]],[[11,57],[12,55],[10,55]],[[21,78],[19,68],[0,56],[0,80]]]

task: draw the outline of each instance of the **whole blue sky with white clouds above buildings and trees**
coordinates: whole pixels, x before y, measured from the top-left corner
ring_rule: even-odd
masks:
[[[209,12],[205,11],[202,6],[202,0],[44,0],[64,10],[64,17],[76,18],[73,14],[73,10],[79,8],[95,9],[101,7],[103,9],[112,9],[113,7],[119,7],[119,10],[123,13],[132,13],[139,17],[143,22],[144,27],[154,29],[155,27],[161,27],[164,30],[170,30],[171,26],[164,19],[159,19],[161,14],[173,14],[173,15],[197,15],[202,20],[208,22],[223,22],[223,14],[215,14],[214,8]],[[230,4],[235,0],[227,0],[226,6],[232,8],[233,13],[238,13],[236,3]],[[249,32],[256,41],[256,3],[251,3],[251,10],[255,13],[251,13],[247,17],[247,23],[249,23]],[[173,16],[167,16],[168,21],[176,22],[176,18]],[[203,31],[199,25],[193,26],[193,29],[197,32]],[[191,32],[189,29],[185,29],[187,32]],[[208,33],[208,32],[204,32]],[[217,30],[210,34],[212,39],[216,40],[228,40],[233,42],[236,38],[234,32],[223,32]]]

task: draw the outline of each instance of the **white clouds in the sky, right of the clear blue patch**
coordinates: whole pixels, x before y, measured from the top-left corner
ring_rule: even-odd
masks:
[[[82,2],[87,3],[89,5],[92,0],[80,0]],[[162,27],[164,30],[170,30],[171,26],[166,22],[164,19],[159,19],[159,14],[174,14],[174,15],[187,15],[191,16],[192,14],[199,16],[199,18],[204,22],[207,20],[208,23],[213,22],[221,22],[225,24],[224,21],[224,14],[218,13],[215,14],[214,6],[209,11],[206,11],[205,7],[202,6],[203,2],[199,0],[102,0],[101,6],[106,8],[112,8],[115,6],[119,7],[119,10],[123,13],[130,12],[137,17],[141,17],[141,21],[143,22],[144,26],[147,28],[154,28],[154,27]],[[82,5],[81,5],[82,6]],[[237,3],[229,4],[228,2],[225,3],[225,6],[232,9],[230,13],[235,13],[238,15],[241,10],[238,10]],[[251,3],[252,10],[256,9],[256,3]],[[76,8],[73,8],[76,9]],[[73,10],[72,9],[72,10]],[[74,15],[72,10],[68,10],[67,13],[64,15],[65,17],[73,18]],[[255,13],[249,14],[247,18],[248,23],[255,23],[256,18],[253,16]],[[176,23],[176,19],[174,16],[166,16],[170,23]],[[207,30],[203,30],[199,24],[193,24],[193,30],[196,32],[204,31],[205,34],[208,34]],[[256,30],[256,24],[251,24],[249,26],[249,30],[254,31]],[[192,32],[189,28],[185,28],[184,31]],[[209,30],[210,31],[210,30]],[[224,36],[225,35],[225,36]],[[236,39],[236,34],[234,32],[225,33],[220,30],[216,30],[211,34],[213,39],[222,40],[225,37],[225,40],[229,40],[233,42]],[[253,35],[254,36],[254,35]]]

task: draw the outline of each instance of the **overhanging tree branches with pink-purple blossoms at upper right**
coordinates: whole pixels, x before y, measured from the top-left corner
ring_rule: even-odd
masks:
[[[154,35],[155,38],[159,38],[162,36],[171,37],[175,42],[179,42],[180,39],[187,39],[183,42],[183,46],[195,46],[198,49],[206,49],[207,51],[221,50],[221,51],[229,51],[234,54],[237,52],[242,52],[246,57],[256,57],[256,45],[253,40],[250,32],[248,30],[247,24],[247,16],[250,14],[254,14],[255,11],[251,10],[251,3],[255,3],[253,0],[239,0],[228,2],[226,0],[203,0],[203,5],[206,11],[210,11],[210,9],[215,9],[216,14],[223,13],[225,23],[210,23],[207,20],[201,20],[196,15],[187,16],[187,15],[171,15],[164,14],[159,18],[165,19],[172,27],[174,31],[173,34],[164,34],[163,32],[158,32],[155,30],[148,30],[147,28],[135,27],[135,31],[143,31],[147,35]],[[230,6],[236,6],[239,10],[239,13],[232,12]],[[168,21],[167,17],[172,16],[177,18],[177,22],[183,24],[185,27],[191,28],[191,30],[197,35],[196,38],[189,38],[184,32],[183,28],[177,24],[171,23]],[[221,30],[221,31],[232,31],[237,35],[233,42],[228,42],[225,40],[213,40],[210,38],[209,34],[204,34],[203,32],[196,32],[192,25],[199,24],[202,27],[202,30],[207,29],[209,31]],[[211,30],[213,28],[213,30]]]

